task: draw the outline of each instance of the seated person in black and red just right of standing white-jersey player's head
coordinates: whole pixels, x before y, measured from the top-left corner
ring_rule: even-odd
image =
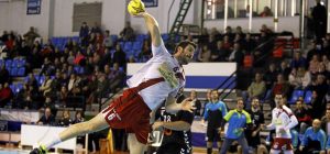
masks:
[[[311,122],[310,113],[306,107],[306,103],[304,103],[304,100],[296,101],[296,110],[294,111],[294,114],[298,119],[298,132],[300,132],[300,134],[304,134]]]

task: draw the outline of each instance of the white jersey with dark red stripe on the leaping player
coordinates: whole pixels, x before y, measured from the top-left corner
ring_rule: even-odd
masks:
[[[163,77],[158,70],[164,63],[178,78],[178,84],[173,87],[167,81],[161,81],[139,92],[151,110],[157,109],[168,96],[176,97],[179,89],[185,87],[184,69],[176,58],[165,48],[162,41],[158,47],[152,45],[153,57],[147,61],[127,82],[130,88],[139,86],[143,81]]]

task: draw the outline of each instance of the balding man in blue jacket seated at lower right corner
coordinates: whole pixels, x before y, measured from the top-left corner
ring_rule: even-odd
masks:
[[[315,119],[312,121],[312,127],[309,127],[304,134],[299,151],[301,154],[310,154],[315,153],[315,151],[320,154],[326,154],[326,143],[327,135],[321,129],[321,121]]]

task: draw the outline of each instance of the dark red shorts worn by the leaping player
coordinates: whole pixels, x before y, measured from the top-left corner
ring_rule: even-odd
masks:
[[[133,132],[139,142],[146,144],[151,131],[150,108],[134,88],[110,102],[102,114],[110,128],[125,129]]]

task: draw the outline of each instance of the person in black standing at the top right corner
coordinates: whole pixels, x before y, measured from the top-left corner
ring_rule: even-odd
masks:
[[[321,40],[327,34],[327,8],[320,2],[321,0],[316,0],[317,6],[312,8],[311,12],[317,40]]]

